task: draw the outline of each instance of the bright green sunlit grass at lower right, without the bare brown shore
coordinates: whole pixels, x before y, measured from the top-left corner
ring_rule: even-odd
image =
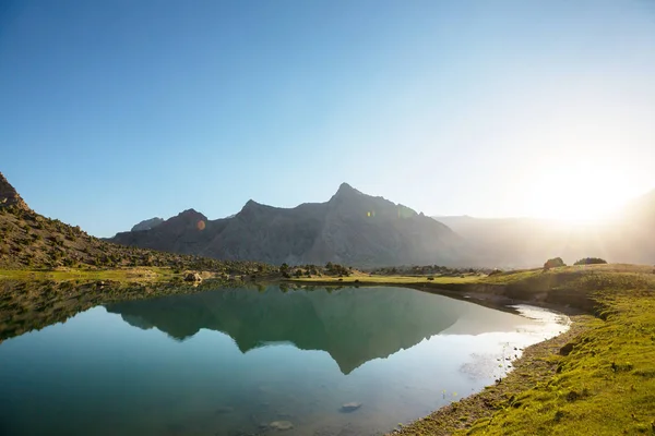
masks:
[[[466,434],[654,434],[655,295],[609,292],[612,310],[557,358],[560,373],[529,387]]]

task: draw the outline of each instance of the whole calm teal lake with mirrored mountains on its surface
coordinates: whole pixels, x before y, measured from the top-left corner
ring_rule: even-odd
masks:
[[[98,306],[0,344],[0,434],[379,435],[492,384],[508,358],[567,328],[517,310],[276,287]]]

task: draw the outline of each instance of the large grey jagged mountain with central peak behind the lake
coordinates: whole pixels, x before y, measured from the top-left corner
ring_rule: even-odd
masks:
[[[110,241],[273,264],[453,265],[462,257],[461,241],[446,226],[347,183],[325,203],[278,208],[251,199],[235,216],[216,220],[189,209]]]

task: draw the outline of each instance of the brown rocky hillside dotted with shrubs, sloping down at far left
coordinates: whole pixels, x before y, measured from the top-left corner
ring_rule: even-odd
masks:
[[[271,269],[262,264],[218,262],[103,241],[80,227],[35,213],[0,173],[0,268],[80,266],[167,266],[237,274]]]

